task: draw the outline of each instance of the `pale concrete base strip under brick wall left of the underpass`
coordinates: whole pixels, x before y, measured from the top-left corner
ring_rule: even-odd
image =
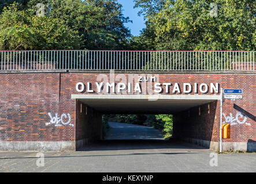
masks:
[[[0,151],[76,151],[75,141],[0,141]]]

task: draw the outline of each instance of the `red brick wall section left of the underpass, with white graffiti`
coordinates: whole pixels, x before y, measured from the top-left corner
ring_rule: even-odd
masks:
[[[70,113],[75,125],[76,104],[60,91],[60,79],[58,73],[0,74],[1,140],[75,141],[75,127],[46,126],[48,113]]]

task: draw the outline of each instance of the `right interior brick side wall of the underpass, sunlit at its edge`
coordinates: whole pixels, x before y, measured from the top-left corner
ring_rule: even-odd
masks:
[[[173,115],[173,137],[210,148],[218,140],[217,101]]]

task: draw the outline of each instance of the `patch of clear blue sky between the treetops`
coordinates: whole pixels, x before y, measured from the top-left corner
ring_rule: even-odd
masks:
[[[138,16],[140,9],[133,9],[133,0],[117,0],[118,3],[123,5],[123,14],[125,17],[129,17],[132,23],[125,24],[130,30],[133,36],[139,36],[140,30],[146,27],[144,24],[143,16]]]

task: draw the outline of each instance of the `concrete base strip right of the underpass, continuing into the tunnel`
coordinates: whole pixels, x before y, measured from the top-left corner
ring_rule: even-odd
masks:
[[[185,138],[184,141],[189,143],[201,145],[202,147],[208,148],[213,151],[220,150],[220,143],[216,141],[202,140],[202,139],[193,139]],[[256,151],[256,142],[222,142],[223,151],[247,151],[255,152]]]

